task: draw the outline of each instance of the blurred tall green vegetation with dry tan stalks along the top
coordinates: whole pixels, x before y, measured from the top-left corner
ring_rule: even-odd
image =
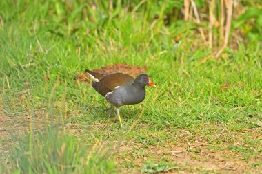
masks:
[[[261,6],[259,0],[11,0],[1,2],[0,24],[26,25],[37,36],[47,32],[53,37],[71,36],[76,49],[82,50],[96,50],[97,46],[106,50],[99,41],[123,47],[137,41],[166,47],[185,38],[192,48],[206,45],[219,57],[219,50],[227,46],[234,49],[240,43],[261,42]],[[134,20],[137,17],[141,20]],[[165,37],[164,43],[156,44],[158,37]]]

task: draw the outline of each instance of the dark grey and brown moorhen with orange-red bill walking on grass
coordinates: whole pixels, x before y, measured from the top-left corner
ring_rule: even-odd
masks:
[[[123,105],[134,105],[145,99],[145,86],[156,87],[150,76],[140,74],[133,78],[128,74],[101,74],[86,69],[85,72],[92,79],[92,87],[110,103],[110,114],[112,111],[117,116],[120,127],[123,127],[119,107]]]

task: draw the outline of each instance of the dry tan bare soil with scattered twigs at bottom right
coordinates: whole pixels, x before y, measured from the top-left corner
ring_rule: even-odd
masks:
[[[165,145],[159,144],[157,146],[123,142],[117,152],[116,161],[119,161],[119,168],[123,173],[141,173],[140,168],[143,168],[148,158],[156,164],[161,161],[177,164],[177,166],[168,168],[165,173],[259,173],[262,171],[261,155],[253,155],[249,160],[244,159],[241,153],[227,149],[230,142],[225,141],[222,133],[214,138],[214,141],[221,139],[222,143],[218,146],[220,149],[212,148],[212,146],[217,146],[217,142],[212,144],[212,140],[206,141],[205,138],[196,140],[194,144],[188,140],[182,140],[176,144],[168,142]],[[225,132],[225,134],[227,133]],[[251,136],[259,140],[257,131],[251,130],[248,133],[253,133],[254,135]],[[239,142],[241,141],[240,136],[237,139]],[[139,149],[139,153],[137,153],[137,149]],[[259,149],[257,153],[259,153]],[[124,164],[130,163],[137,169],[125,168]],[[254,166],[254,164],[260,165]]]

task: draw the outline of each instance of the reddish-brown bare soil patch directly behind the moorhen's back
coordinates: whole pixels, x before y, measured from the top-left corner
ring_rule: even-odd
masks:
[[[139,67],[134,65],[127,65],[125,63],[117,63],[114,65],[108,65],[105,67],[101,67],[100,69],[93,69],[94,72],[99,72],[101,74],[114,74],[117,72],[121,72],[124,74],[129,74],[130,76],[137,77],[139,74],[143,74],[148,70],[148,67]],[[85,74],[77,74],[77,80],[79,81],[89,81],[89,76],[87,73]]]

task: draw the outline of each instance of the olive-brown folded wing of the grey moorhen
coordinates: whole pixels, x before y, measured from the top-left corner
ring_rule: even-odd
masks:
[[[114,90],[117,86],[123,86],[125,84],[131,83],[134,81],[132,76],[123,73],[110,74],[103,76],[99,83],[95,84],[94,89],[99,92],[102,96],[105,96],[108,92]]]

